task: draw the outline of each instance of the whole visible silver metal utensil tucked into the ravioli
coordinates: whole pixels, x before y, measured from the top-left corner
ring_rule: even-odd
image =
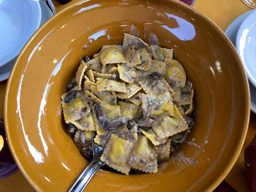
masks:
[[[76,179],[75,183],[70,187],[67,192],[82,192],[92,176],[98,171],[98,169],[104,165],[100,161],[100,156],[103,153],[103,148],[92,141],[93,159],[91,163],[86,167],[83,173]]]

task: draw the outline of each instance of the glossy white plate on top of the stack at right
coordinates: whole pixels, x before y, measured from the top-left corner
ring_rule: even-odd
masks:
[[[256,87],[256,10],[251,12],[240,25],[236,48],[249,81]]]

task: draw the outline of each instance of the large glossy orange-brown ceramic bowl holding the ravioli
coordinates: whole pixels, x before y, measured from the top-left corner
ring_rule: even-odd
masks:
[[[87,166],[65,132],[60,96],[79,57],[121,43],[123,33],[147,42],[155,35],[161,47],[174,48],[195,90],[195,124],[187,140],[195,138],[201,146],[183,143],[177,152],[198,163],[183,167],[169,159],[156,174],[129,176],[99,170],[85,191],[212,191],[242,148],[250,113],[248,84],[224,33],[173,0],[80,1],[38,29],[18,56],[7,84],[6,134],[18,167],[37,191],[63,192]]]

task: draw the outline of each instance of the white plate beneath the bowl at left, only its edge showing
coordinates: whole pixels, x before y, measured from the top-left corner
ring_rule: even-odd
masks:
[[[40,23],[40,26],[41,26],[45,21],[47,21],[50,17],[52,17],[52,12],[48,8],[48,6],[45,4],[45,2],[40,2],[40,6],[42,11],[42,17],[41,17],[41,23]],[[16,58],[0,68],[0,81],[4,81],[8,79],[15,60]]]

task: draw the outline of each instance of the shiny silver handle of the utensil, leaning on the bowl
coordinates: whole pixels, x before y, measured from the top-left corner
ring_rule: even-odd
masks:
[[[102,161],[93,159],[67,192],[82,192],[102,165],[104,165]]]

